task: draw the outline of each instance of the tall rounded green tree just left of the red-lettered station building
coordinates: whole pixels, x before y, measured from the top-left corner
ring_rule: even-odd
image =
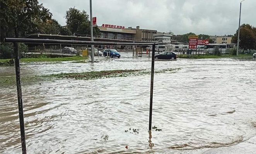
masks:
[[[90,36],[90,20],[85,10],[81,12],[75,7],[69,8],[68,11],[66,11],[65,18],[67,26],[72,33]],[[93,35],[97,36],[100,34],[99,27],[94,27]]]

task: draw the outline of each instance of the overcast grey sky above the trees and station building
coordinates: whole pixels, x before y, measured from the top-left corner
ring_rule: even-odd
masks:
[[[177,34],[194,32],[208,35],[234,34],[239,23],[241,0],[92,0],[97,25],[140,26],[141,29]],[[39,0],[66,25],[70,7],[90,13],[89,0]],[[256,0],[242,2],[241,24],[256,27]]]

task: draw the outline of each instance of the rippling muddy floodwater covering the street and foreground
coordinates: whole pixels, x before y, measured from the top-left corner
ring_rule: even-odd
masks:
[[[149,59],[31,63],[22,75],[149,69]],[[28,154],[256,153],[256,61],[156,61],[152,126],[150,75],[23,84]],[[14,67],[0,67],[1,77]],[[21,153],[15,85],[0,87],[0,153]],[[136,129],[136,130],[135,130]],[[149,141],[149,137],[151,138]],[[128,148],[126,149],[126,146]]]

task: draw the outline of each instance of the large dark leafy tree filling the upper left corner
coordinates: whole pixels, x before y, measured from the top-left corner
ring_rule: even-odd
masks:
[[[1,40],[38,32],[52,15],[38,0],[1,0],[0,6]]]

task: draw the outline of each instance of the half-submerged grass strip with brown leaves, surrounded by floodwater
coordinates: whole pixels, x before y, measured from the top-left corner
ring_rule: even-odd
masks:
[[[178,69],[162,69],[155,70],[155,73],[164,73],[170,71],[176,71]],[[110,77],[127,77],[131,75],[145,75],[150,74],[150,70],[103,70],[103,71],[92,71],[92,72],[81,72],[81,73],[60,73],[60,74],[49,74],[49,75],[35,75],[35,76],[21,76],[21,81],[24,84],[30,84],[38,81],[50,81],[50,80],[61,80],[61,79],[75,79],[75,80],[91,80],[101,79]],[[15,76],[12,77],[1,77],[0,85],[15,84]]]

